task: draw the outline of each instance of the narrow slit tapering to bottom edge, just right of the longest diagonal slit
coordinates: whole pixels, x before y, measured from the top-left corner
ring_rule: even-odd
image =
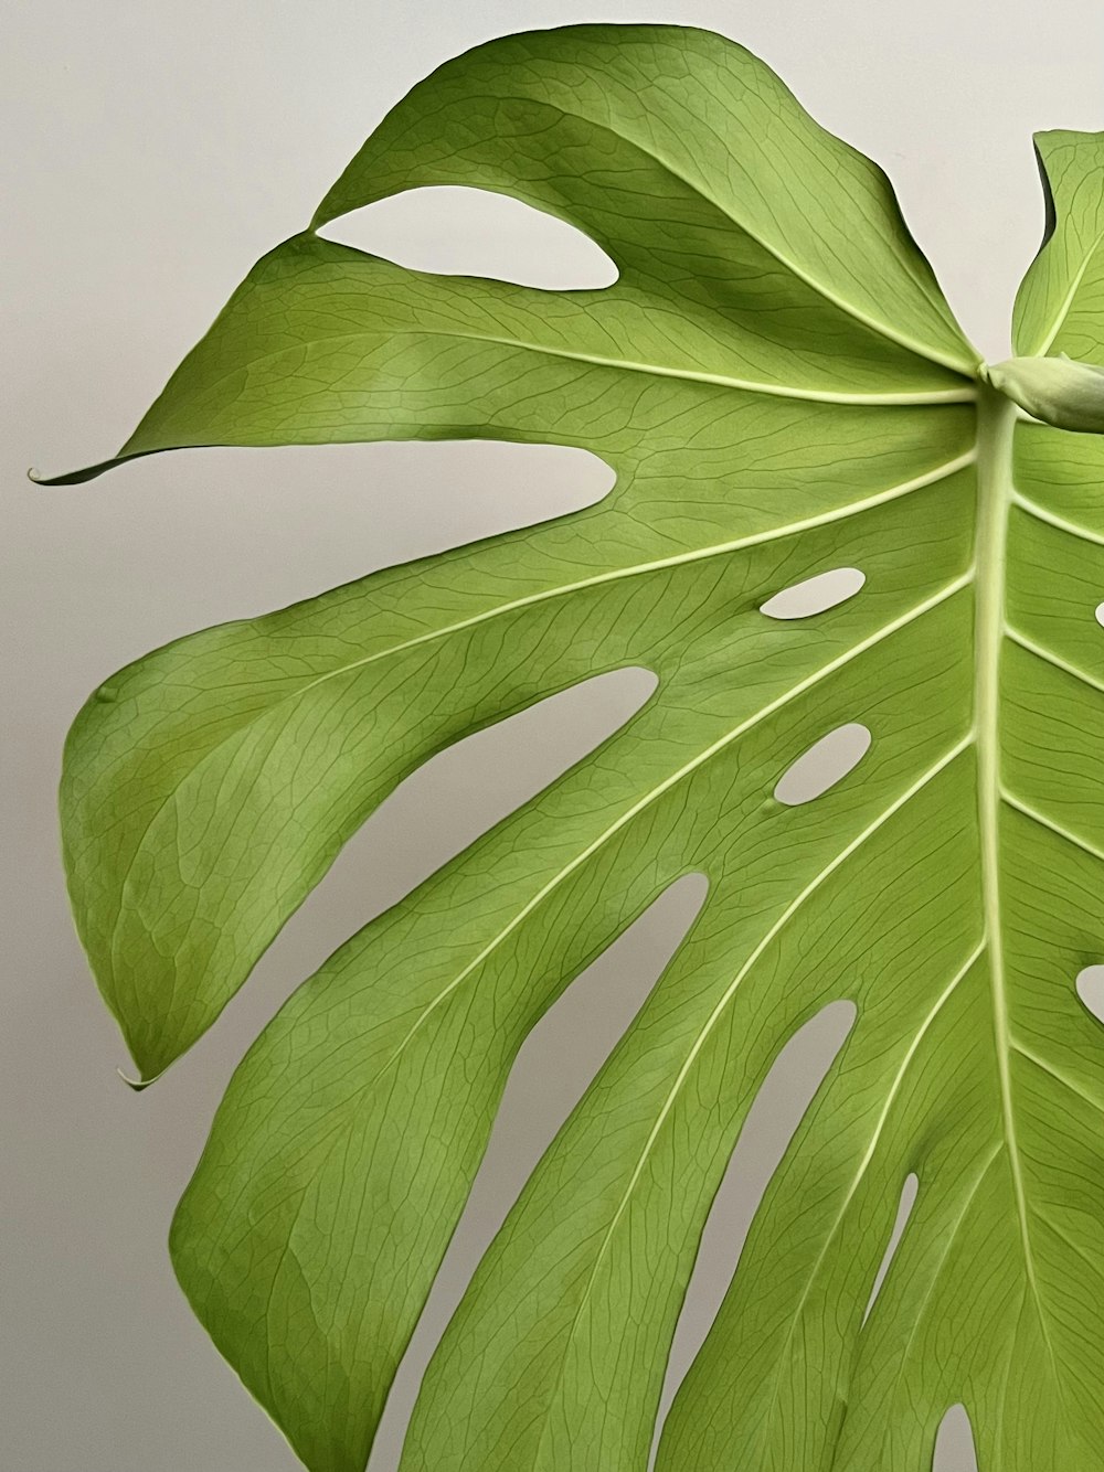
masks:
[[[762,1192],[846,1042],[855,1016],[855,1004],[849,1001],[821,1007],[786,1042],[755,1095],[710,1207],[686,1285],[659,1397],[652,1460],[667,1412],[729,1292]]]

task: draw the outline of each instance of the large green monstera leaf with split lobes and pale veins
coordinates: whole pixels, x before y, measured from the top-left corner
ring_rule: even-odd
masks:
[[[1104,141],[1039,140],[1022,355],[1104,356]],[[417,185],[570,221],[614,286],[424,275],[315,228]],[[150,1079],[433,752],[655,673],[587,760],[375,919],[237,1070],[172,1229],[314,1472],[367,1457],[511,1064],[674,879],[708,898],[484,1257],[403,1466],[645,1469],[711,1200],[786,1041],[855,1007],[659,1472],[1104,1466],[1104,450],[995,392],[882,172],[755,57],[667,26],[511,37],[386,118],[121,459],[581,446],[599,505],[160,649],[74,727],[65,849]],[[105,467],[66,480],[88,478]],[[832,568],[861,592],[762,605]],[[818,799],[779,779],[871,743]],[[916,1207],[867,1314],[902,1183]]]

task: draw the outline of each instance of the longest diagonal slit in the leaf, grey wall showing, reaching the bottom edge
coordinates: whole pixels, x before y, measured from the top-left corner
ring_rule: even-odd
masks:
[[[567,986],[518,1050],[487,1153],[392,1384],[367,1472],[397,1466],[425,1366],[480,1259],[698,919],[707,891],[704,874],[684,874],[670,885]]]

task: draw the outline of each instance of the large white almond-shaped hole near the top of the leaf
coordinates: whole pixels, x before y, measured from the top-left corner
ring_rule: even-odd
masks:
[[[405,190],[343,215],[319,234],[434,275],[493,277],[546,291],[617,281],[611,258],[581,230],[483,188]]]

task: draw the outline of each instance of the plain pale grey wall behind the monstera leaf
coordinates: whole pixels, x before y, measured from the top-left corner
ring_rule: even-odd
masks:
[[[62,739],[93,684],[156,643],[533,520],[596,487],[565,480],[562,464],[523,470],[480,446],[209,450],[74,490],[35,489],[25,468],[110,453],[253,259],[306,222],[424,72],[495,34],[571,21],[707,25],[762,54],[821,122],[888,168],[967,331],[1001,356],[1042,224],[1030,132],[1104,127],[1104,7],[35,0],[3,15],[0,1472],[280,1472],[294,1459],[193,1322],[165,1250],[221,1089],[283,997],[344,935],[586,749],[634,690],[612,682],[568,695],[523,740],[490,733],[417,779],[343,855],[213,1033],[140,1097],[115,1078],[127,1060],[68,919],[53,807]],[[392,238],[406,230],[411,249],[433,250],[439,228],[480,234],[475,216],[453,216],[393,227]],[[524,228],[506,222],[496,234],[499,249],[506,240],[531,259]],[[464,1253],[486,1239],[693,902],[692,886],[668,894],[599,963],[598,1013],[553,1019],[537,1039],[422,1353],[462,1285]],[[542,1070],[556,1036],[573,1052],[590,1035],[577,1079]],[[779,1119],[799,1108],[814,1054],[776,1085]],[[761,1158],[745,1158],[733,1222],[754,1204],[776,1148],[770,1129],[751,1148]],[[393,1465],[415,1372],[374,1472]],[[960,1440],[946,1466],[963,1454]]]

